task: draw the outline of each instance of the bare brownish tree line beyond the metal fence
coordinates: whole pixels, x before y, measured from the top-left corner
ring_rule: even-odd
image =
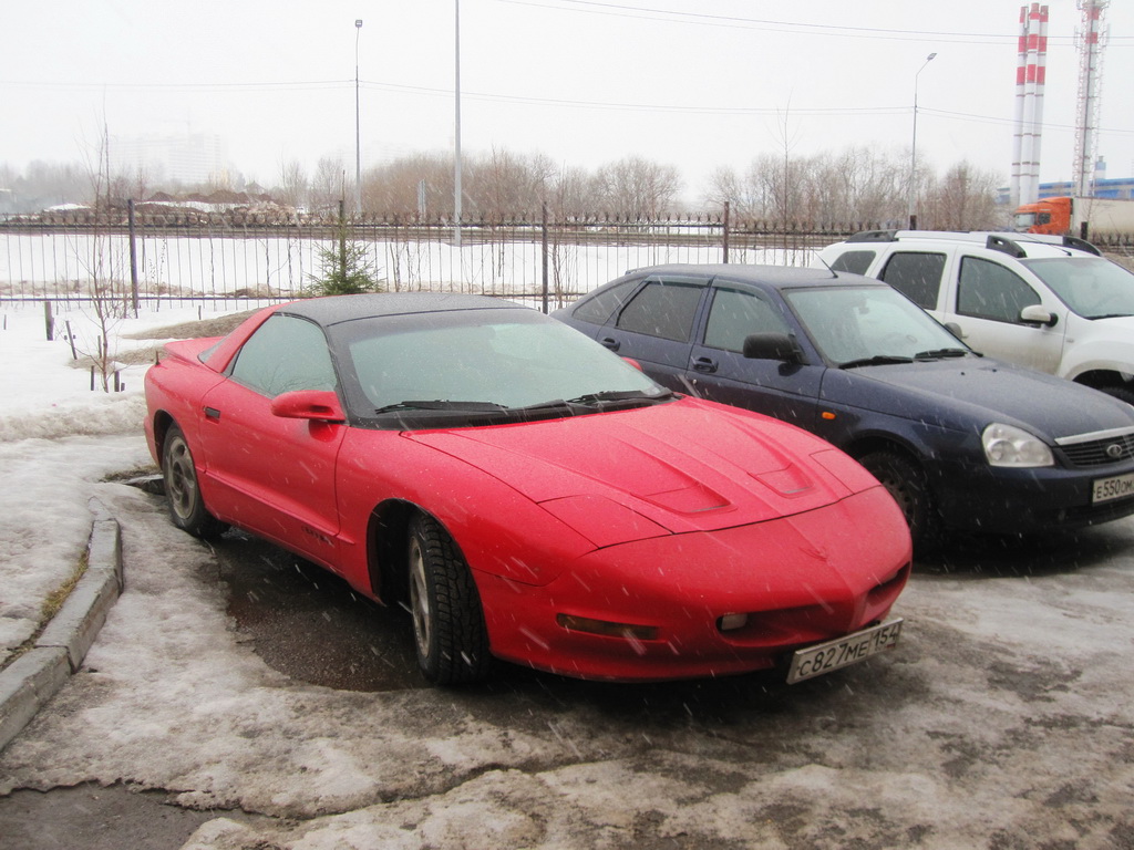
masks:
[[[64,202],[144,201],[159,190],[176,196],[225,189],[270,197],[296,210],[335,211],[341,199],[353,210],[356,196],[354,168],[341,158],[323,158],[310,172],[298,161],[285,162],[271,187],[245,184],[238,175],[196,187],[155,185],[142,169],[100,172],[98,178],[79,165],[33,162],[20,172],[0,164],[0,189],[46,201],[39,209]],[[454,211],[454,185],[450,154],[418,153],[366,169],[358,196],[367,215],[446,219]],[[559,165],[539,153],[493,150],[463,159],[462,218],[469,222],[534,220],[545,204],[556,218],[648,220],[721,214],[727,204],[734,220],[772,227],[905,227],[915,212],[923,229],[981,230],[1005,227],[1010,212],[997,203],[992,172],[960,162],[941,175],[921,165],[911,176],[908,154],[865,146],[812,156],[761,154],[743,170],[717,169],[692,203],[683,199],[685,188],[677,168],[642,156],[589,170]]]

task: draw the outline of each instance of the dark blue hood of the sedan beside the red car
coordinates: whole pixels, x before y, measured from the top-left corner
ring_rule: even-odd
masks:
[[[1134,407],[1098,390],[988,358],[828,369],[829,403],[960,431],[991,422],[1056,440],[1134,427]]]

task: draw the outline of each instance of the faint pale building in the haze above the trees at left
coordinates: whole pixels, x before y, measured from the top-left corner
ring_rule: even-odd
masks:
[[[230,170],[228,145],[208,133],[111,136],[109,153],[113,173],[150,184],[223,185]]]

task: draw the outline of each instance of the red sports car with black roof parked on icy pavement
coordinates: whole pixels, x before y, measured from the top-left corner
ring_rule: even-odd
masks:
[[[174,522],[237,526],[405,605],[434,682],[492,656],[797,681],[898,639],[909,535],[873,477],[536,311],[319,298],[167,349],[146,437]]]

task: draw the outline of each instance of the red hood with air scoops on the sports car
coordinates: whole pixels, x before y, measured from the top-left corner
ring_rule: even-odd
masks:
[[[799,428],[694,399],[405,437],[494,476],[596,545],[762,522],[880,486]]]

